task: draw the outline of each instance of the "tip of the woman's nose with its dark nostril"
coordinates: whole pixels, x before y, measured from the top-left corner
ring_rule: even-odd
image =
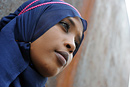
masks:
[[[64,46],[67,48],[67,50],[69,51],[69,53],[73,53],[74,50],[75,50],[75,42],[72,39],[65,41],[64,42]]]

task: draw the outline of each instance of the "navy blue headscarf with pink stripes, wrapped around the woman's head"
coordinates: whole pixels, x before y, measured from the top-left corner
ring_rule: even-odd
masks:
[[[87,29],[87,22],[76,8],[62,0],[28,0],[14,13],[2,18],[0,87],[44,87],[47,78],[31,64],[30,42],[66,17],[79,17],[83,32]]]

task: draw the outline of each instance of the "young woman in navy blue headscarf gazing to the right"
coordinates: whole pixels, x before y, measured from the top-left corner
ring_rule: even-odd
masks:
[[[44,87],[83,40],[87,22],[61,0],[29,0],[0,21],[0,87]]]

